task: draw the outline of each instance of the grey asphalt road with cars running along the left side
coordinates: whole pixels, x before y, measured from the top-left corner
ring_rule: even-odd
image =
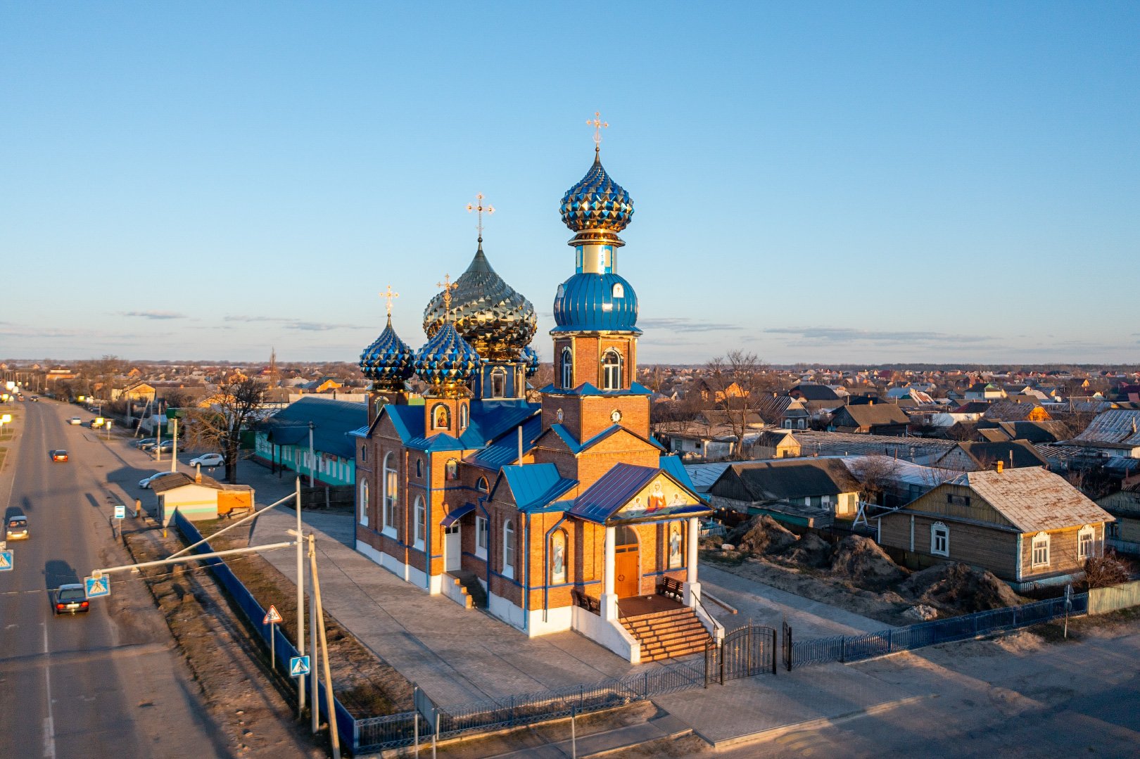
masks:
[[[31,539],[8,544],[15,569],[0,573],[0,757],[230,756],[141,582],[116,574],[89,613],[54,617],[51,588],[129,563],[109,527],[124,493],[108,480],[141,473],[95,431],[65,423],[91,418],[78,407],[44,400],[18,411],[0,506],[27,515]],[[55,448],[71,460],[52,463]]]

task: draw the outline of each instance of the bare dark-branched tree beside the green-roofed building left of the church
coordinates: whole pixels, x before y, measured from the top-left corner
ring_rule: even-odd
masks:
[[[237,454],[242,431],[260,421],[267,387],[253,377],[234,375],[218,385],[207,408],[188,410],[187,443],[219,451],[226,462],[226,481],[237,482]]]

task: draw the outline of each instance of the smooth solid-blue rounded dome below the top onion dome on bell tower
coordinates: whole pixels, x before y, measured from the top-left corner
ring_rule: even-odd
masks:
[[[637,293],[616,274],[576,274],[554,296],[554,332],[636,332]]]

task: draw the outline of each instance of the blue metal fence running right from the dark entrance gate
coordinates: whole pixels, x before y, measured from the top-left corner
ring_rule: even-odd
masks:
[[[1089,611],[1089,594],[1074,595],[1069,614]],[[966,640],[988,632],[1013,630],[1064,617],[1064,598],[1049,598],[1021,606],[993,609],[962,617],[919,622],[863,635],[837,635],[830,638],[809,638],[791,644],[789,667],[823,664],[831,661],[848,662],[882,656],[898,651],[922,648],[938,643]]]

